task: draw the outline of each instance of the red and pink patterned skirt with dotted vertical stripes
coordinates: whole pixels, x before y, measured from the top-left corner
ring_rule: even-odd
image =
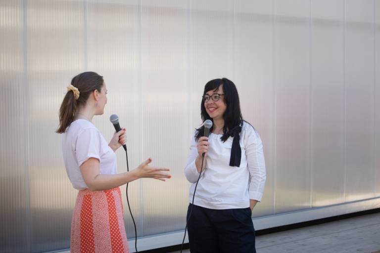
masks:
[[[78,192],[71,222],[72,253],[129,253],[119,188]]]

